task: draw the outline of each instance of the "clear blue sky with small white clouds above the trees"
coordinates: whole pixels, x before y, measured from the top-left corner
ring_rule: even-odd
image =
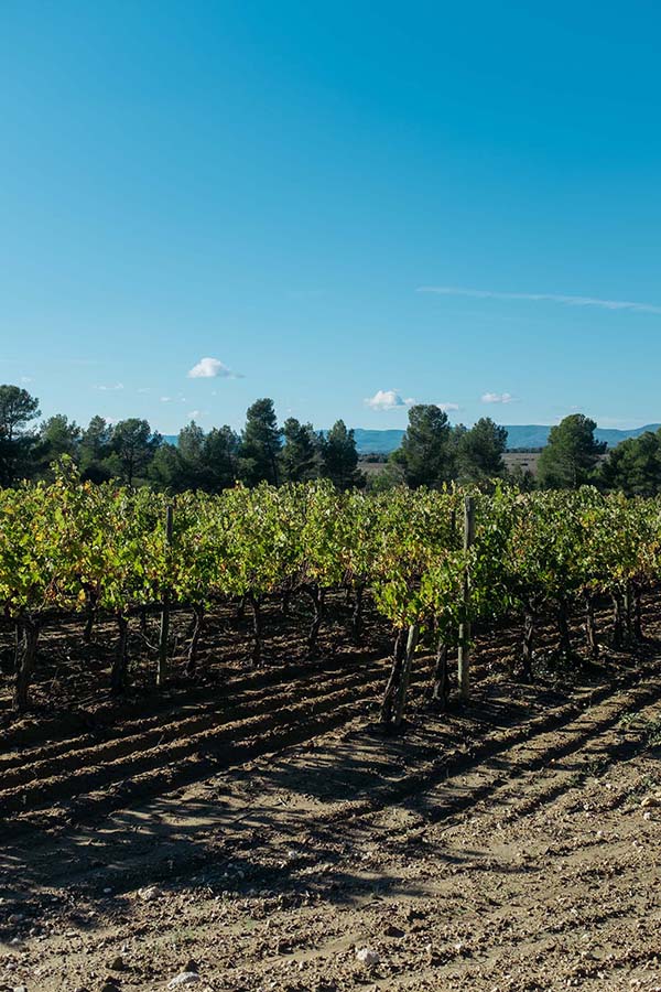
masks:
[[[6,0],[0,381],[166,433],[661,421],[660,44],[652,2]]]

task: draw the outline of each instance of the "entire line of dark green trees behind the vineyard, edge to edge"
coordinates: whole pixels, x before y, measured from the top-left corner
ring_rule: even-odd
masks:
[[[595,440],[595,421],[582,413],[551,429],[537,477],[520,467],[507,471],[503,427],[487,417],[470,429],[452,425],[447,413],[431,403],[411,407],[401,446],[381,471],[369,475],[360,468],[354,431],[343,420],[325,432],[293,417],[281,425],[268,398],[248,408],[240,432],[227,424],[205,432],[193,421],[180,431],[176,444],[140,418],[110,423],[97,416],[83,428],[63,413],[35,425],[40,416],[39,400],[26,389],[0,386],[0,486],[48,479],[52,463],[66,455],[83,479],[116,478],[171,493],[218,493],[237,482],[252,487],[315,478],[328,478],[339,489],[438,489],[449,482],[479,484],[498,477],[528,490],[593,484],[628,496],[661,492],[661,432],[646,432],[607,453]]]

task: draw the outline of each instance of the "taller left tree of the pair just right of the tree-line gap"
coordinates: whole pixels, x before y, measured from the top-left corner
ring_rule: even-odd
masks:
[[[440,488],[456,473],[456,444],[447,413],[433,403],[409,410],[409,425],[401,448],[391,455],[401,466],[408,486]]]

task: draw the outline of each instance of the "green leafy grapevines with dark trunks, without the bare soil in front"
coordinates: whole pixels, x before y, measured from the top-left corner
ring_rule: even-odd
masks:
[[[466,504],[469,520],[465,519]],[[468,533],[468,529],[469,533]],[[360,643],[368,594],[392,626],[393,666],[383,700],[386,722],[403,708],[408,667],[420,639],[433,639],[433,694],[449,691],[448,651],[464,664],[470,625],[502,617],[522,625],[522,671],[532,671],[535,624],[556,618],[570,654],[570,617],[584,615],[589,651],[599,641],[595,602],[613,603],[613,641],[641,636],[640,597],[661,570],[661,504],[578,492],[489,494],[448,488],[380,495],[339,493],[323,482],[174,498],[147,488],[82,483],[62,466],[53,484],[0,490],[0,611],[15,627],[13,702],[29,704],[40,632],[79,615],[89,640],[99,616],[113,617],[117,650],[111,689],[128,681],[132,616],[161,615],[158,681],[167,673],[167,617],[191,611],[187,670],[205,615],[236,602],[253,618],[254,665],[262,660],[262,606],[293,595],[314,607],[310,656],[316,650],[329,591],[353,597],[353,636]],[[462,682],[467,694],[467,678]]]

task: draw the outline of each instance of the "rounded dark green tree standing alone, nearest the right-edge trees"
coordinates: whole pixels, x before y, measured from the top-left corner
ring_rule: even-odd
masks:
[[[595,441],[597,424],[583,413],[551,428],[538,462],[538,481],[548,489],[576,489],[589,482],[606,444]]]

